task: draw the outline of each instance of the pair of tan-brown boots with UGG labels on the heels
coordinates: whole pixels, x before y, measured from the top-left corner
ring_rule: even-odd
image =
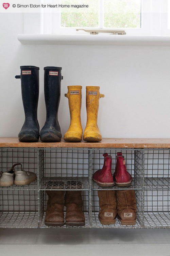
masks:
[[[102,225],[115,224],[116,217],[121,225],[136,224],[136,197],[134,190],[98,190],[99,221]]]

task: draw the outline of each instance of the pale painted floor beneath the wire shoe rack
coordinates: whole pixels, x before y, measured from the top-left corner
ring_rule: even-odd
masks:
[[[0,229],[0,256],[169,256],[170,229]]]

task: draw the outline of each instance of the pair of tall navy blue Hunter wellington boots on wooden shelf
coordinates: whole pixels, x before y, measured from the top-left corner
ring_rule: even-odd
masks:
[[[21,79],[22,102],[25,121],[18,134],[19,141],[61,141],[61,129],[58,123],[58,107],[61,94],[61,67],[44,68],[44,95],[46,102],[46,122],[39,132],[37,108],[39,97],[39,67],[21,66],[21,74],[15,78]]]

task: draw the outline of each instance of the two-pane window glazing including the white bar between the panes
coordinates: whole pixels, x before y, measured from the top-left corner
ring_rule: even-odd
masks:
[[[74,3],[64,1],[62,3]],[[141,0],[94,0],[90,10],[61,12],[61,27],[140,28]],[[70,10],[69,10],[70,11]]]

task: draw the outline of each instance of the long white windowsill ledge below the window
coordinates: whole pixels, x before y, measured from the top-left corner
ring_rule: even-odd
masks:
[[[18,40],[21,44],[170,46],[170,36],[156,35],[18,34]]]

